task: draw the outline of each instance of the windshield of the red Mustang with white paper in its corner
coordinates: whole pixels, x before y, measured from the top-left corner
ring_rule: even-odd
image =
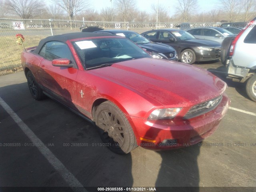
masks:
[[[151,58],[143,49],[126,38],[96,38],[72,42],[86,69],[138,58]]]

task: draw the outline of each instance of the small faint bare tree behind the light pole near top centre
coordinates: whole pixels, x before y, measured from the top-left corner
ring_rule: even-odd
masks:
[[[157,13],[158,13],[158,22],[164,22],[168,20],[169,10],[165,5],[158,4],[158,8],[157,8],[157,4],[152,4],[151,9],[153,10],[153,14],[152,14],[153,20],[156,20]]]

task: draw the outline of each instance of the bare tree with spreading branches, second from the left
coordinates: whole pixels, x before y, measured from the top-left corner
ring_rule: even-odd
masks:
[[[69,19],[72,21],[74,16],[87,10],[90,6],[88,0],[51,0],[52,3],[60,6],[68,13]]]

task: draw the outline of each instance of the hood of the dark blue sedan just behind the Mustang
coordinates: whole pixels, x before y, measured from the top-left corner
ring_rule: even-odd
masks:
[[[166,46],[164,44],[158,43],[145,43],[145,44],[138,44],[141,48],[145,48],[147,51],[151,52],[158,52],[158,53],[169,53],[174,52],[174,48],[170,46]]]

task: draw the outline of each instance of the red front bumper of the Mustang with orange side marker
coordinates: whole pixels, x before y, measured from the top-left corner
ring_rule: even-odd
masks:
[[[228,96],[223,94],[220,104],[214,110],[188,120],[148,121],[132,117],[138,133],[137,143],[152,150],[170,150],[196,144],[214,133],[229,104]],[[171,142],[163,144],[164,140]]]

